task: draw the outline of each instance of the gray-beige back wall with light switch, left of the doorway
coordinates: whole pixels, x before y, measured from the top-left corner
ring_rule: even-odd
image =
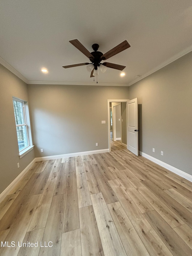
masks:
[[[127,99],[128,91],[121,86],[28,85],[35,156],[108,149],[107,99]]]

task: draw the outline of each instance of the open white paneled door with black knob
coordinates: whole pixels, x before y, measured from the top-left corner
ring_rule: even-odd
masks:
[[[137,98],[127,102],[127,149],[135,155],[139,155]]]

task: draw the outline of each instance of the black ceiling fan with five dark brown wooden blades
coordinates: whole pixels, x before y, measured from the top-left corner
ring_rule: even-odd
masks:
[[[90,53],[77,39],[71,40],[69,42],[73,44],[74,47],[76,47],[79,51],[85,54],[85,56],[89,58],[91,63],[88,63],[88,62],[79,63],[74,65],[63,66],[63,68],[72,68],[72,67],[92,64],[92,67],[90,65],[90,68],[92,70],[90,77],[95,77],[95,74],[98,74],[98,71],[97,71],[98,67],[101,68],[101,65],[105,66],[106,68],[114,68],[118,70],[123,70],[126,67],[126,66],[122,66],[122,65],[118,65],[110,62],[101,63],[101,61],[109,59],[110,57],[116,55],[117,53],[120,53],[125,49],[131,47],[127,40],[123,41],[121,44],[118,44],[116,47],[114,47],[113,49],[111,49],[105,54],[98,51],[98,48],[99,48],[98,44],[92,45],[94,52]]]

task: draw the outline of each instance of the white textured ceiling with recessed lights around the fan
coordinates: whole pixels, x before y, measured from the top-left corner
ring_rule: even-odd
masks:
[[[126,76],[107,68],[98,85],[131,85],[192,50],[191,0],[1,0],[0,24],[0,63],[27,83],[96,85],[86,66],[62,68],[89,62],[73,39],[90,52],[131,45],[107,60]]]

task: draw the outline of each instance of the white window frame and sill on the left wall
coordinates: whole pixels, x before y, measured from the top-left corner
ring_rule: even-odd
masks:
[[[21,150],[19,150],[19,157],[22,158],[29,151],[31,151],[34,147],[34,146],[32,146],[32,136],[31,136],[31,128],[30,128],[30,120],[29,120],[29,109],[28,109],[28,105],[27,105],[26,101],[23,101],[21,99],[15,98],[15,97],[13,97],[13,101],[21,102],[22,103],[22,110],[23,110],[24,123],[16,125],[16,127],[19,127],[19,126],[25,126],[26,127],[27,146],[22,148]],[[26,105],[27,105],[27,111],[26,111]],[[17,140],[18,140],[18,138],[17,138]],[[18,149],[19,149],[19,144],[18,144]]]

